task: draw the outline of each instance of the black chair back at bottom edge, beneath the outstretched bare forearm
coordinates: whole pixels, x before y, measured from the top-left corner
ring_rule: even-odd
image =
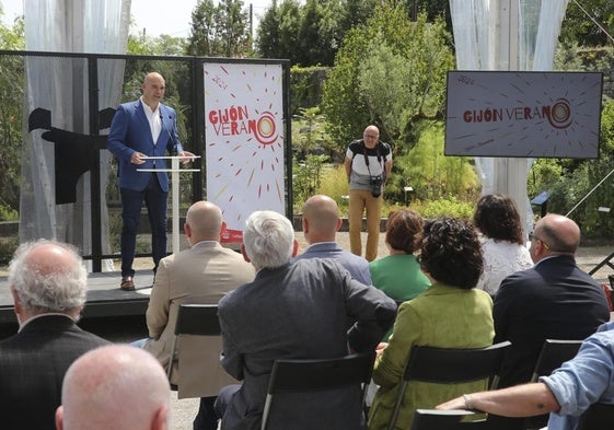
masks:
[[[479,412],[478,412],[479,414]],[[484,418],[463,420],[475,416],[470,410],[416,409],[410,430],[518,430],[515,419],[488,415]],[[477,417],[476,417],[477,418]]]

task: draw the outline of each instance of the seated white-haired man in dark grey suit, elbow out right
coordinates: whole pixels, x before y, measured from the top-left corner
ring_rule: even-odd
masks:
[[[291,262],[297,248],[283,216],[257,211],[247,219],[241,249],[256,278],[219,303],[222,367],[243,381],[220,392],[216,411],[222,430],[259,429],[276,359],[343,357],[348,346],[370,351],[394,321],[396,304],[384,293],[358,282],[334,260]],[[357,323],[348,332],[350,316]],[[354,391],[304,394],[276,410],[283,429],[361,429],[357,397]],[[309,419],[298,418],[297,406],[309,410]]]

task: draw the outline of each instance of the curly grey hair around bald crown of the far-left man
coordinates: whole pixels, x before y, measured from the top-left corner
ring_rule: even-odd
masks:
[[[40,272],[36,262],[27,256],[43,245],[55,245],[66,249],[73,264],[58,266],[50,272]],[[23,243],[9,264],[9,286],[18,294],[25,309],[36,312],[67,313],[82,306],[88,293],[88,270],[81,256],[69,244],[38,240]]]

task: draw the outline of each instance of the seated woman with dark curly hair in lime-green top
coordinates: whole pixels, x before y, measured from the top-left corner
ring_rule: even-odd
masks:
[[[385,429],[392,415],[403,371],[414,345],[439,348],[484,348],[493,344],[493,300],[475,288],[483,269],[475,229],[453,218],[427,221],[420,266],[432,286],[398,307],[389,344],[378,346],[373,381],[380,385],[369,412],[369,429]],[[433,408],[486,382],[407,386],[395,429],[409,429],[417,408]]]

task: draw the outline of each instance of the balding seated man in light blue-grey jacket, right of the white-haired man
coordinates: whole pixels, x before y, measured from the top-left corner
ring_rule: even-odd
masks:
[[[297,256],[303,258],[334,258],[344,266],[354,279],[370,286],[369,262],[349,251],[341,249],[335,235],[341,226],[337,202],[328,196],[310,197],[303,206],[303,234],[309,247]]]

